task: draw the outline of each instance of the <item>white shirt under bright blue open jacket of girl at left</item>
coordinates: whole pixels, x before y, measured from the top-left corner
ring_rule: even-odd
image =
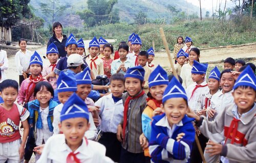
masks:
[[[52,135],[53,132],[49,130],[47,117],[49,114],[49,106],[46,107],[44,110],[40,107],[40,115],[42,119],[42,129],[36,128],[37,131],[37,139],[36,139],[36,145],[39,146],[42,144],[42,141],[46,142]]]

